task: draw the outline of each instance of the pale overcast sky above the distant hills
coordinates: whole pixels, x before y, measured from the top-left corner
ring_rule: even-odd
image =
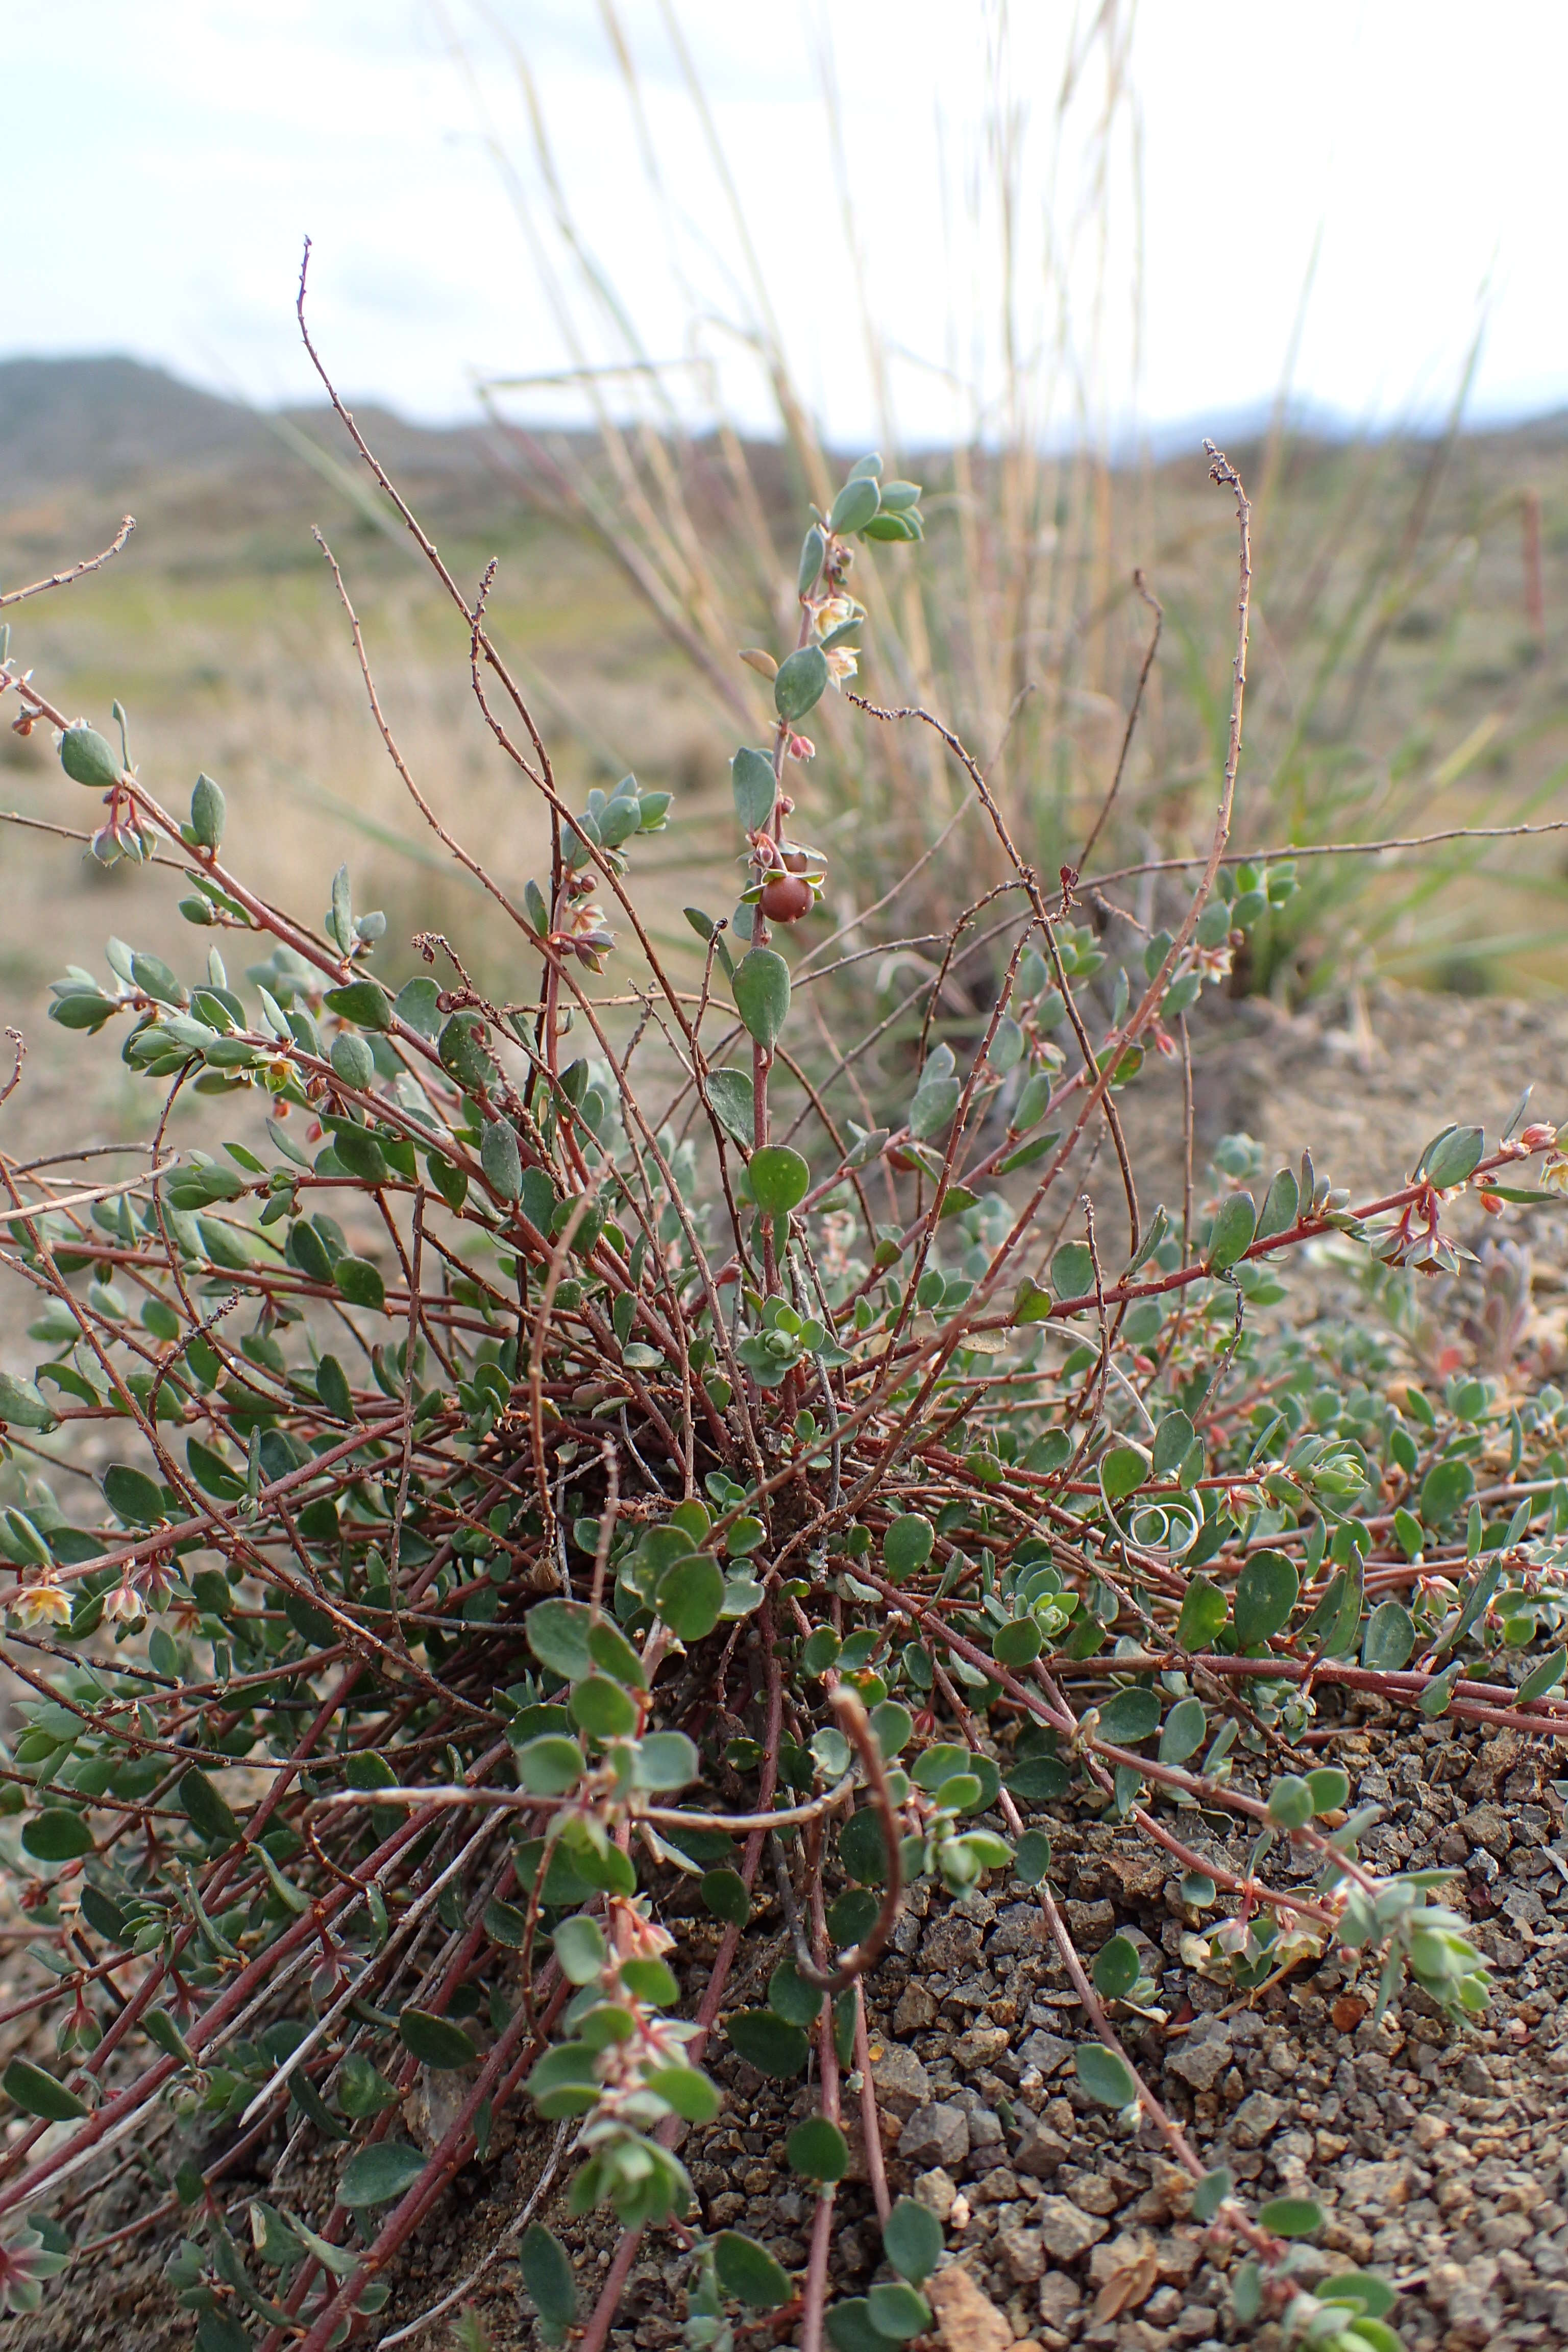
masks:
[[[842,440],[879,419],[825,49],[912,437],[976,407],[994,419],[1004,397],[999,120],[1018,151],[1013,334],[1041,426],[1253,409],[1281,383],[1298,315],[1295,395],[1352,421],[1434,414],[1481,322],[1472,414],[1568,402],[1563,0],[1143,0],[1114,101],[1091,47],[1060,127],[1088,0],[1016,0],[1006,64],[987,0],[618,0],[642,122],[599,0],[5,14],[0,355],[127,350],[252,400],[308,395],[292,294],[310,233],[320,341],[360,397],[458,416],[482,376],[639,343],[703,362],[668,379],[696,414],[722,397],[766,421],[736,332],[757,296],[672,14],[792,367]],[[520,61],[578,247],[630,336],[562,259]],[[524,400],[581,414],[559,388]]]

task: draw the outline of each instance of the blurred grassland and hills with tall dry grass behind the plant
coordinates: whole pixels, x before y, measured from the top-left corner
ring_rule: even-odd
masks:
[[[788,642],[790,515],[816,447],[802,461],[769,445],[651,449],[651,435],[616,435],[611,463],[585,435],[360,421],[458,576],[477,581],[501,557],[491,619],[569,788],[628,767],[672,788],[663,894],[670,910],[682,891],[724,910],[726,760],[738,729],[766,727],[762,682],[733,656]],[[336,421],[261,419],[132,362],[9,362],[0,442],[7,586],[106,543],[122,510],[139,517],[113,567],[16,616],[16,652],[49,689],[99,724],[118,696],[169,800],[200,767],[219,774],[244,856],[266,858],[280,898],[324,891],[350,840],[360,894],[388,906],[393,936],[414,927],[404,915],[440,929],[463,906],[482,955],[505,960],[508,941],[477,896],[465,906],[386,762],[310,524],[343,560],[388,717],[425,790],[510,877],[536,870],[543,828],[473,706],[461,623],[350,470]],[[1279,428],[1229,454],[1255,485],[1258,557],[1237,847],[1561,814],[1563,428],[1368,445]],[[1114,771],[1150,630],[1131,586],[1140,567],[1166,633],[1095,870],[1192,849],[1215,800],[1234,597],[1229,515],[1201,452],[1039,461],[1023,520],[1004,454],[898,452],[889,463],[926,482],[929,543],[863,562],[865,691],[945,715],[1053,873],[1077,858]],[[0,762],[7,807],[87,821],[42,734],[7,729]],[[842,708],[827,713],[804,793],[839,922],[961,797],[926,743]],[[973,870],[983,842],[978,830],[964,840]],[[16,1002],[52,976],[82,894],[113,901],[146,884],[16,830],[5,856]],[[1568,844],[1552,835],[1307,863],[1288,929],[1246,985],[1286,1002],[1380,976],[1554,988],[1566,898]],[[684,953],[679,922],[665,929]]]

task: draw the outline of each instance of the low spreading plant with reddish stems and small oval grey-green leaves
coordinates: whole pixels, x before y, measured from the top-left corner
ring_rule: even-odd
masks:
[[[914,1051],[813,1037],[799,1009],[832,967],[820,931],[797,946],[827,875],[792,826],[795,762],[853,670],[858,541],[919,560],[919,489],[875,456],[811,515],[795,644],[750,654],[773,727],[736,750],[745,884],[724,917],[691,910],[696,995],[635,891],[668,795],[628,776],[562,802],[487,630],[489,576],[470,602],[402,503],[496,743],[550,811],[550,873],[512,903],[404,771],[517,927],[527,1000],[482,997],[435,936],[393,990],[346,868],[324,915],[275,908],[226,863],[212,779],[179,816],[125,731],[0,652],[16,727],[54,727],[63,776],[103,800],[92,854],[139,868],[136,908],[183,889],[197,934],[176,964],[115,938],[54,990],[56,1023],[85,1049],[118,1037],[155,1089],[146,1167],[0,1160],[33,1341],[0,1374],[2,1851],[33,1938],[5,2016],[54,2025],[52,2065],[5,2070],[28,2119],[0,2157],[12,2307],[73,2251],[68,2185],[172,2110],[190,2152],[167,2281],[202,2352],[320,2352],[386,2307],[397,2249],[531,2107],[557,2126],[520,2218],[545,2340],[583,2326],[599,2347],[639,2232],[686,2223],[691,2345],[766,2312],[806,2347],[882,2352],[929,2324],[943,2232],[884,2180],[863,1983],[922,1879],[954,1898],[1018,1879],[1084,2009],[1081,2093],[1164,2136],[1234,2253],[1237,2310],[1347,2352],[1394,2343],[1380,2281],[1300,2291],[1291,2246],[1321,2211],[1248,2211],[1138,2072],[1126,2025],[1161,2020],[1161,1987],[1126,1933],[1084,1966],[1041,1825],[1072,1797],[1166,1856],[1206,1976],[1253,1990],[1338,1947],[1380,2011],[1415,1985],[1462,2030],[1486,1966],[1446,1872],[1363,1856],[1375,1809],[1349,1809],[1333,1762],[1338,1698],[1568,1726],[1568,1402],[1526,1376],[1422,1378],[1408,1350],[1413,1287],[1465,1279],[1458,1207],[1549,1200],[1556,1131],[1523,1105],[1490,1148],[1448,1127],[1371,1200],[1248,1138],[1187,1211],[1145,1214],[1133,1181],[1117,1098],[1291,884],[1213,896],[1251,562],[1241,482],[1218,452],[1211,470],[1241,550],[1211,854],[1110,1021],[1081,995],[1095,927],[1018,854],[957,736],[863,706],[936,729],[1009,873],[922,969]],[[865,917],[842,962],[875,948]],[[938,1035],[959,964],[985,1007],[964,1056]],[[176,1148],[188,1096],[233,1129],[221,1150]],[[1103,1141],[1117,1247],[1081,1192]],[[1284,1322],[1291,1261],[1328,1244],[1366,1310]],[[1253,1837],[1244,1872],[1194,1844],[1215,1825]],[[773,1898],[788,1952],[731,2009]],[[788,2138],[816,2190],[802,2277],[701,2227],[677,2140],[722,2107],[715,2037],[813,2077]],[[425,2150],[402,2114],[430,2079]],[[846,2096],[889,2277],[830,2307]],[[336,2169],[313,2218],[280,2192],[308,2140]],[[275,2201],[230,2227],[223,2176],[263,2143]],[[623,2225],[585,2317],[534,2220],[557,2164],[569,2213]]]

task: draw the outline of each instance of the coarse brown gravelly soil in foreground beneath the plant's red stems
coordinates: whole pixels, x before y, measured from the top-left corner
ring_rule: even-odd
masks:
[[[1368,1839],[1382,1867],[1458,1865],[1455,1900],[1495,1971],[1493,2011],[1460,2032],[1422,1994],[1375,2025],[1373,1985],[1347,1957],[1300,1969],[1237,2002],[1194,1978],[1178,1957],[1182,1907],[1166,1863],[1126,1832],[1070,1806],[1039,1813],[1056,1846],[1056,1884],[1086,1952],[1112,1931],[1140,1936],[1161,1980],[1168,2027],[1135,2027],[1131,2044],[1206,2161],[1229,2164],[1248,2199],[1314,2194],[1328,2227],[1312,2274],[1373,2265],[1401,2288],[1394,2314],[1410,2347],[1561,2345],[1568,2340],[1568,1825],[1554,1762],[1516,1733],[1389,1717],[1352,1703],[1340,1755],[1361,1802],[1385,1806]],[[1244,1846],[1215,1846],[1232,1867]],[[778,1957],[762,1915],[752,1997]],[[701,1931],[698,1931],[701,1938]],[[701,1940],[689,1987],[705,1983]],[[748,1997],[745,1966],[736,2004]],[[1084,2016],[1065,1969],[1044,1943],[1039,1912],[1016,1882],[964,1903],[919,1891],[896,1950],[870,1983],[872,2072],[884,2114],[893,2192],[912,2192],[947,2220],[952,2265],[985,2303],[947,2310],[945,2352],[1041,2352],[1103,2345],[1276,2343],[1267,2324],[1229,2317],[1225,2258],[1190,2220],[1185,2176],[1152,2126],[1133,2140],[1088,2105],[1072,2074]],[[719,2046],[722,2049],[722,2046]],[[715,2056],[729,2105],[684,2159],[710,2227],[743,2227],[785,2265],[804,2263],[809,2197],[783,2164],[783,2133],[811,2105],[806,2086],[776,2086],[741,2060]],[[853,2107],[853,2098],[849,2100]],[[538,2178],[552,2131],[527,2129],[470,2166],[425,2223],[395,2279],[381,2326],[390,2331],[463,2281],[505,2230]],[[853,2131],[851,2131],[853,2145]],[[263,2159],[266,2171],[266,2159]],[[292,2185],[310,2201],[336,2164],[313,2164]],[[233,2183],[235,2223],[259,2180]],[[134,2183],[85,2216],[113,2227],[136,2211]],[[263,2194],[268,2194],[263,2190]],[[292,2201],[277,2187],[270,2194]],[[839,2190],[839,2291],[877,2274],[879,2239],[865,2152]],[[545,2218],[574,2244],[592,2293],[614,2234]],[[66,2352],[122,2343],[162,2352],[188,2340],[169,2310],[158,2260],[167,2230],[103,2256],[12,2321],[7,2352]],[[158,2249],[153,2253],[153,2249]],[[611,2343],[661,2352],[679,2343],[686,2265],[649,2241]],[[534,2347],[515,2260],[503,2253],[475,2284],[473,2305],[496,2352]],[[987,2347],[990,2331],[990,2347]],[[371,2333],[374,2340],[374,2333]],[[442,2328],[425,2338],[442,2345]],[[766,2340],[766,2336],[764,2336]]]

